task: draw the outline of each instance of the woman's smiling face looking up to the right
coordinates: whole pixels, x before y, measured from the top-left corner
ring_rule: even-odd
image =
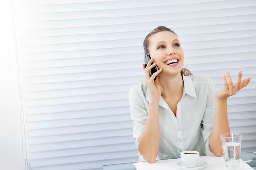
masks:
[[[184,52],[177,36],[170,31],[161,31],[149,38],[149,54],[155,59],[162,73],[178,74],[183,68]]]

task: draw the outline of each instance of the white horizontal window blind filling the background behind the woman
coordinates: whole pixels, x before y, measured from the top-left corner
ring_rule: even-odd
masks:
[[[242,152],[256,151],[255,0],[13,0],[29,170],[101,170],[138,161],[128,91],[144,79],[143,39],[158,25],[185,68],[252,81],[228,100]]]

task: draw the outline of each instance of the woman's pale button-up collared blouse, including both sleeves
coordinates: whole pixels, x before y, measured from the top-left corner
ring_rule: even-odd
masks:
[[[213,128],[215,86],[210,78],[183,75],[183,95],[176,117],[162,96],[159,101],[160,146],[157,159],[180,157],[180,152],[194,150],[200,156],[209,152]],[[138,149],[148,116],[149,93],[145,82],[133,85],[129,92],[133,137]],[[141,153],[138,154],[141,155]]]

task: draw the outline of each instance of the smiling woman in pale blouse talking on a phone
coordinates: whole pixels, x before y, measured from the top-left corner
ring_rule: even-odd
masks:
[[[184,53],[175,32],[159,26],[144,40],[145,82],[129,92],[133,136],[139,155],[149,162],[180,157],[180,152],[196,150],[206,155],[222,155],[220,134],[229,133],[227,98],[245,87],[251,78],[239,72],[232,83],[229,72],[223,75],[223,88],[215,92],[213,81],[193,76],[183,68]],[[154,62],[154,64],[152,64]],[[150,70],[159,70],[151,77]],[[154,78],[156,80],[154,80]]]

